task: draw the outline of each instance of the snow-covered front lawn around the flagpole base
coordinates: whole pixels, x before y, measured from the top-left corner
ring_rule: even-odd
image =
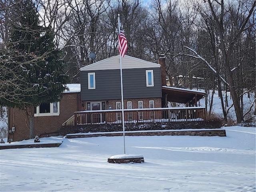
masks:
[[[255,128],[225,129],[227,137],[126,136],[126,154],[143,155],[142,164],[107,162],[123,153],[122,136],[0,150],[0,191],[255,192]]]

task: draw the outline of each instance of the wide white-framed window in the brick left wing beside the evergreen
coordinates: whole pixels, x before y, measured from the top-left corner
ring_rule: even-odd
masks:
[[[60,115],[60,102],[42,103],[34,108],[34,116],[58,116]]]

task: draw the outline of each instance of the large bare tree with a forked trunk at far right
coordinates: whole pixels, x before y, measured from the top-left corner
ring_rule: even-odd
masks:
[[[243,111],[240,106],[239,91],[236,84],[233,66],[231,64],[232,56],[234,56],[234,47],[241,37],[242,33],[251,25],[248,23],[252,13],[255,11],[255,1],[242,2],[238,5],[232,2],[220,2],[217,0],[208,0],[208,6],[212,12],[220,38],[220,50],[222,53],[222,61],[226,70],[226,77],[229,82],[229,90],[232,96],[237,122],[243,121]],[[235,7],[235,8],[233,8]],[[227,20],[230,18],[230,20]],[[254,23],[252,23],[254,24]]]

